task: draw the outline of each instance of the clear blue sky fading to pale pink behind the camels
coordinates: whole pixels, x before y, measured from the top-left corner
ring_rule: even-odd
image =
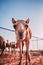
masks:
[[[0,26],[13,29],[11,19],[30,18],[33,36],[43,38],[43,0],[0,0]],[[15,40],[14,32],[0,29],[0,35]]]

